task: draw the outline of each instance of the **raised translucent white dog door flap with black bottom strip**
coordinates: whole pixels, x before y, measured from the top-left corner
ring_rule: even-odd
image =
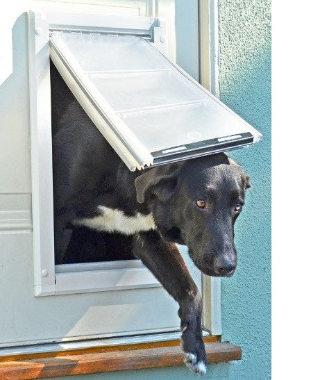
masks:
[[[262,138],[141,36],[61,31],[50,40],[53,63],[130,170]]]

